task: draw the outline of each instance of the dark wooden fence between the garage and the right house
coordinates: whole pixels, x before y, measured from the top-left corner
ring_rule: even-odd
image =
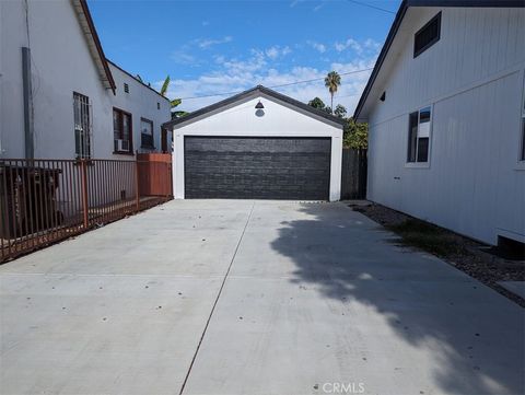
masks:
[[[366,198],[366,150],[342,150],[341,199]]]

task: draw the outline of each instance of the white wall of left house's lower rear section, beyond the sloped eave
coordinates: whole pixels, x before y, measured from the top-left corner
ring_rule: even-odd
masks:
[[[117,85],[115,96],[112,95],[112,105],[119,109],[131,113],[133,131],[133,152],[160,152],[161,151],[161,126],[171,120],[170,101],[162,97],[154,90],[144,86],[126,71],[109,63],[113,78]],[[124,91],[124,83],[129,86],[129,93]],[[160,109],[158,108],[158,103]],[[145,118],[153,121],[153,144],[154,150],[141,147],[140,144],[140,119]],[[113,121],[113,120],[112,120]],[[110,136],[107,137],[108,144],[113,148],[113,124],[109,125]],[[126,155],[115,155],[125,158]]]

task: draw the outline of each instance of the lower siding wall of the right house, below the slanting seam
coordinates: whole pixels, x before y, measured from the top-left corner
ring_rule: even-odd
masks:
[[[371,127],[369,198],[487,243],[525,236],[523,71],[433,104],[430,167],[406,166],[408,113]]]

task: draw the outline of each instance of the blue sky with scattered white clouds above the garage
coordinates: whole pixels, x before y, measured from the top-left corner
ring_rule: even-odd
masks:
[[[349,115],[399,3],[89,0],[106,57],[155,89],[170,75],[167,96],[183,98],[177,109],[196,111],[258,84],[289,84],[275,90],[329,105],[322,79],[335,70],[342,75],[334,106]],[[315,81],[295,84],[304,80]]]

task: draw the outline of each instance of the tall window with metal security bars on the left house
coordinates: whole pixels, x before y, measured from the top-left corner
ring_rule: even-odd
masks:
[[[91,158],[90,97],[73,92],[74,153],[79,159]]]

